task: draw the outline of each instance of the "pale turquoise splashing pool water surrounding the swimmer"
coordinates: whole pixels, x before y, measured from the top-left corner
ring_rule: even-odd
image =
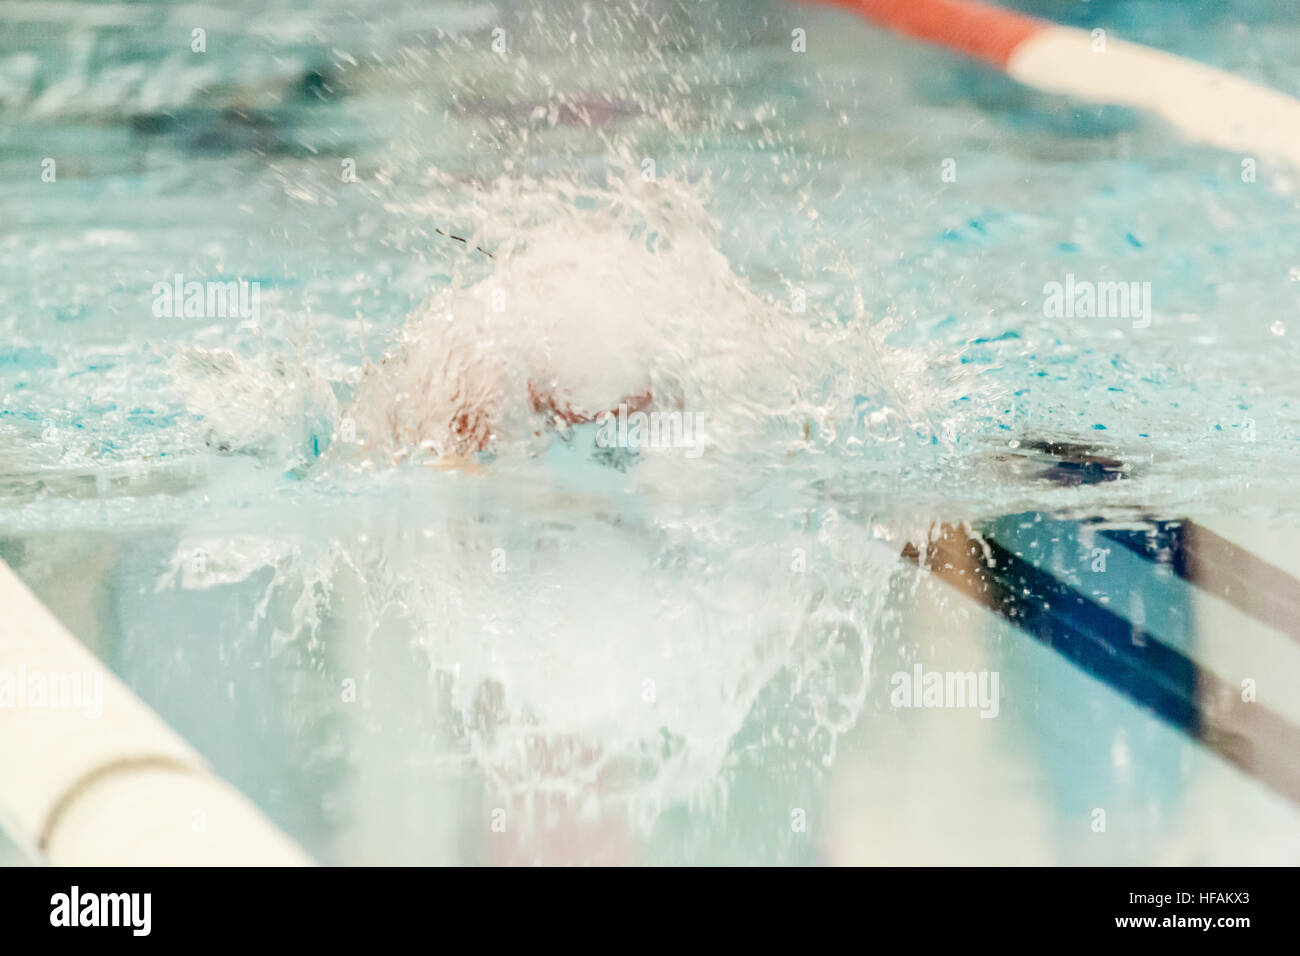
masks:
[[[1300,94],[1280,3],[1019,7]],[[91,9],[0,12],[0,557],[316,858],[1295,861],[1294,795],[901,555],[1287,537],[1300,172],[805,5]],[[636,356],[703,453],[516,401],[424,467],[448,350]]]

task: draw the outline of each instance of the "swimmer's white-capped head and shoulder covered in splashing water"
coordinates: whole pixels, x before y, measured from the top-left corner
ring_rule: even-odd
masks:
[[[504,263],[495,281],[528,289],[526,306],[502,307],[488,282],[436,295],[343,412],[360,455],[474,472],[504,445],[569,437],[620,410],[680,411],[703,338],[698,324],[689,338],[677,330],[689,321],[685,293],[629,278],[618,260],[582,260]]]

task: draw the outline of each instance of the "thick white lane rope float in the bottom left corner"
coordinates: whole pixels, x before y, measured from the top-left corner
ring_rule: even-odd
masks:
[[[311,862],[4,562],[0,821],[20,845],[55,865]]]

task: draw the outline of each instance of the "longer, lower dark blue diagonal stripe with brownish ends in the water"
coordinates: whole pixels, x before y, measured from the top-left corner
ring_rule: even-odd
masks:
[[[996,538],[942,531],[924,555],[909,545],[904,557],[1300,804],[1300,728]]]

